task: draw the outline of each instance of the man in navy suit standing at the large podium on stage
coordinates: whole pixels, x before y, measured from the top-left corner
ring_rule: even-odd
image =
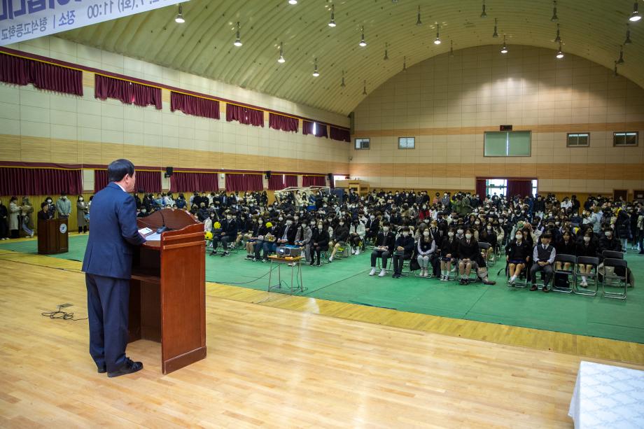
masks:
[[[98,372],[118,377],[143,369],[125,356],[130,307],[132,246],[146,239],[137,230],[134,164],[116,160],[107,167],[109,184],[92,199],[92,230],[83,272],[90,321],[90,355]]]

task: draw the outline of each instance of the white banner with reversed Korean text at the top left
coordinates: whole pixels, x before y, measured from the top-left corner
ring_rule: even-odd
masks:
[[[188,0],[0,0],[0,46]]]

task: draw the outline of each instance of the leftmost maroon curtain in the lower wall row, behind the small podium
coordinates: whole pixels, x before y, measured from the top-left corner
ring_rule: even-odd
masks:
[[[83,192],[80,169],[0,167],[0,195],[78,195]]]

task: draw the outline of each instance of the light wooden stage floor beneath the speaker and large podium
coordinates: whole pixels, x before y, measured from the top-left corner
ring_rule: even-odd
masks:
[[[205,360],[163,376],[139,341],[144,370],[109,379],[87,321],[41,316],[87,316],[79,268],[0,253],[2,427],[570,428],[580,360],[644,369],[640,344],[209,283]]]

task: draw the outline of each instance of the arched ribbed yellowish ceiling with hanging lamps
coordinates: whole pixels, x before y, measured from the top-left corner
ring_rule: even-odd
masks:
[[[346,114],[407,66],[454,50],[503,43],[552,48],[552,0],[191,0],[59,34],[62,38],[231,85]],[[335,5],[337,27],[328,27]],[[420,6],[421,25],[416,25]],[[612,69],[633,0],[558,0],[563,50]],[[644,5],[640,7],[644,14]],[[494,18],[499,38],[492,38]],[[241,26],[240,48],[235,23]],[[435,45],[436,24],[442,44]],[[360,27],[367,46],[360,48]],[[631,22],[619,73],[644,87],[644,20]],[[279,64],[279,43],[286,62]],[[384,60],[388,43],[388,60]],[[500,54],[499,54],[500,55]],[[510,52],[511,55],[511,52]],[[320,76],[314,78],[314,58]],[[340,87],[342,70],[346,87]]]

